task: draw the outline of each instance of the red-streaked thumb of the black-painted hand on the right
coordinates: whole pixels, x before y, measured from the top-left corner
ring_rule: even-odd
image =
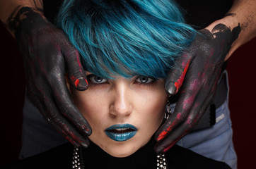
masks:
[[[187,69],[190,66],[190,61],[191,57],[187,53],[184,53],[175,61],[177,66],[169,71],[165,79],[165,89],[169,94],[177,94],[179,91],[187,73]]]

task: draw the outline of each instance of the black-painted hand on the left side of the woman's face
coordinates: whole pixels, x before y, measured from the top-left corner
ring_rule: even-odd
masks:
[[[8,25],[23,55],[30,100],[66,139],[76,146],[88,146],[85,136],[91,134],[91,127],[74,105],[65,79],[67,71],[73,87],[88,87],[78,51],[62,30],[33,8],[21,8]]]

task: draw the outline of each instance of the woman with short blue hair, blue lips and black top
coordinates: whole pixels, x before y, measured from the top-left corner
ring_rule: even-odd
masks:
[[[92,127],[91,145],[64,144],[12,168],[229,168],[180,146],[153,151],[170,115],[164,78],[196,34],[173,1],[64,1],[57,25],[86,70],[89,88],[69,90]]]

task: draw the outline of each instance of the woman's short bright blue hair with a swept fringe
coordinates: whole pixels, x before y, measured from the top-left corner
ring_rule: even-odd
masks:
[[[69,0],[57,15],[85,70],[165,78],[196,31],[172,0]]]

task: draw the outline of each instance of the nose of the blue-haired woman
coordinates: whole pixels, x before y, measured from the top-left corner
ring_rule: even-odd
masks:
[[[132,92],[127,84],[119,84],[113,89],[113,99],[110,104],[112,118],[129,116],[132,113]]]

